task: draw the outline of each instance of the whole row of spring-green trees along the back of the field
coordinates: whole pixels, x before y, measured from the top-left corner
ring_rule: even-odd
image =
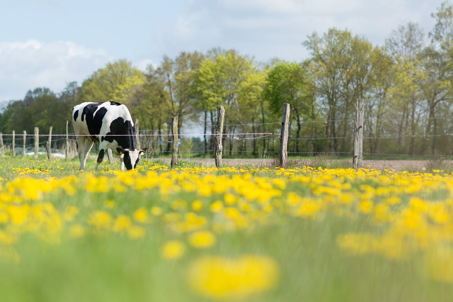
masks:
[[[363,98],[365,153],[451,155],[453,5],[444,2],[431,16],[428,34],[410,22],[382,45],[347,29],[314,32],[302,43],[309,51],[303,62],[257,62],[221,48],[164,56],[145,72],[124,59],[109,62],[60,93],[39,87],[10,101],[0,131],[32,133],[39,126],[45,133],[52,125],[53,133],[64,133],[74,105],[117,101],[140,120],[140,129],[158,134],[169,133],[171,116],[180,128],[202,125],[210,134],[219,105],[226,108],[224,133],[279,133],[281,107],[289,103],[290,152],[343,154],[352,151],[355,102]],[[278,149],[275,139],[242,139],[255,136],[226,136],[224,150]],[[202,148],[213,149],[213,140],[204,138]]]

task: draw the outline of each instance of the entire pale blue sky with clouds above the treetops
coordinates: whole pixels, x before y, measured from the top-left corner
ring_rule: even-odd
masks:
[[[0,0],[0,102],[61,91],[106,62],[145,70],[164,54],[235,48],[258,61],[302,61],[307,35],[331,27],[383,44],[399,25],[427,34],[440,0]]]

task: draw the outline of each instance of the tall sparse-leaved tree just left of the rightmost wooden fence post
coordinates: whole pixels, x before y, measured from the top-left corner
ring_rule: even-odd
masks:
[[[342,136],[349,136],[355,99],[366,96],[371,89],[372,45],[364,37],[335,28],[328,29],[322,37],[313,33],[303,45],[311,52],[308,68],[329,120],[326,135],[333,137],[329,151],[333,148],[337,152],[338,130],[342,130]],[[349,144],[349,140],[345,141],[342,151],[347,151]]]

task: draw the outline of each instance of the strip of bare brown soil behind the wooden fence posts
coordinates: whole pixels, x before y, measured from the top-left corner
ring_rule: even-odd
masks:
[[[171,158],[159,158],[159,159],[164,160],[168,164],[170,164],[170,162],[171,162]],[[184,159],[184,160],[201,163],[205,167],[215,166],[214,158],[190,158],[190,159]],[[292,159],[290,159],[290,160],[292,160]],[[312,162],[312,160],[309,160],[309,159],[307,159],[307,160],[296,159],[294,161],[296,161],[296,163],[300,163],[300,165],[302,165],[302,166],[312,165],[312,164],[310,164]],[[347,161],[347,162],[349,162],[349,161]],[[453,161],[445,161],[445,162],[447,162],[449,165],[453,164]],[[225,158],[225,159],[223,159],[223,164],[226,166],[236,166],[241,163],[243,165],[270,167],[273,163],[273,160],[272,159],[263,159],[263,158]],[[427,166],[429,166],[429,163],[424,160],[364,160],[363,161],[364,168],[368,167],[368,168],[376,168],[376,169],[395,169],[396,171],[402,171],[402,170],[415,171],[415,170],[421,170],[422,168],[426,168]],[[352,167],[352,161],[351,161],[351,167]]]

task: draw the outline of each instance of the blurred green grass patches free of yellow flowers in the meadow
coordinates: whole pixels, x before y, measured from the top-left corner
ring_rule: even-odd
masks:
[[[332,168],[337,163],[329,157],[314,160],[318,163],[324,161],[325,168]],[[153,161],[164,163],[159,159]],[[196,165],[189,160],[183,163]],[[92,168],[94,164],[95,159],[89,159],[87,167]],[[0,161],[0,177],[9,180],[17,177],[11,167],[19,166],[47,168],[50,170],[49,177],[63,177],[76,173],[79,162],[78,159],[66,162],[60,159],[47,161],[45,157],[36,161],[7,157]],[[63,167],[63,170],[57,167]],[[119,164],[109,165],[104,161],[101,169],[107,168],[119,169]],[[101,175],[101,172],[95,175]],[[222,175],[234,177],[232,173]],[[367,179],[352,181],[351,184],[357,190],[363,184],[378,186]],[[313,196],[309,184],[291,183],[286,191],[296,192],[302,197]],[[439,190],[420,197],[436,201],[450,195]],[[409,197],[405,193],[401,196],[404,204],[407,204]],[[193,192],[172,191],[169,200],[165,200],[157,189],[94,194],[79,190],[73,196],[63,192],[49,194],[45,196],[45,201],[57,210],[77,205],[81,212],[74,222],[83,223],[83,219],[96,210],[109,211],[112,216],[132,216],[139,207],[163,206],[164,211],[168,211],[171,201],[179,198],[192,201],[198,197]],[[212,221],[219,218],[207,208],[218,198],[212,195],[202,199],[206,208],[203,214]],[[107,209],[106,199],[114,200],[116,207]],[[403,261],[383,259],[378,254],[348,256],[336,244],[337,236],[342,233],[371,231],[379,234],[388,225],[376,226],[367,216],[349,220],[331,213],[323,219],[278,215],[272,219],[268,225],[257,228],[220,233],[217,244],[212,248],[199,251],[188,247],[187,254],[174,261],[162,260],[160,247],[167,240],[181,237],[185,240],[187,236],[174,234],[161,222],[146,225],[147,236],[138,241],[108,233],[49,244],[34,235],[27,235],[15,245],[21,257],[19,263],[0,258],[0,301],[210,301],[189,290],[185,275],[190,261],[203,254],[232,258],[242,254],[262,254],[279,263],[279,286],[246,301],[422,302],[450,301],[453,297],[451,284],[430,281],[425,277],[427,267],[417,255]],[[0,225],[0,230],[2,228]]]

